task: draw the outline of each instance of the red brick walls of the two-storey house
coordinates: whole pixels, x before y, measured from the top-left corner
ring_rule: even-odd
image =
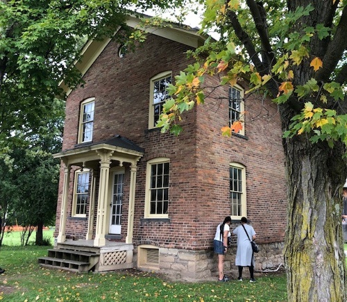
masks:
[[[282,241],[285,178],[276,106],[265,100],[264,110],[261,98],[247,99],[246,137],[221,136],[221,127],[228,124],[226,99],[207,100],[204,106],[185,114],[184,131],[178,137],[158,129],[149,131],[149,80],[167,70],[178,74],[187,65],[184,52],[189,48],[149,35],[142,47],[125,58],[117,56],[118,49],[116,42],[110,42],[85,74],[85,85],[69,95],[63,150],[73,148],[77,142],[80,103],[89,97],[95,97],[93,142],[120,134],[145,149],[137,169],[134,242],[178,249],[212,247],[217,224],[230,214],[230,161],[246,166],[248,218],[259,234],[258,242]],[[170,158],[169,222],[143,219],[146,161],[159,156]],[[71,180],[69,213],[72,187]],[[61,191],[62,177],[57,230]],[[124,197],[125,239],[128,192]],[[75,229],[78,234],[83,234],[83,228],[86,231],[86,221],[68,219],[67,226],[71,235]]]

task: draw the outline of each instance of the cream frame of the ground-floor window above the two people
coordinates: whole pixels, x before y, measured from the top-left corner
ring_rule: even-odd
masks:
[[[238,170],[241,170],[241,185],[237,180],[232,182],[232,178],[230,177],[231,169],[235,168]],[[236,182],[236,183],[235,183]],[[230,198],[230,217],[231,219],[241,219],[241,217],[247,216],[247,196],[246,196],[246,167],[244,165],[241,165],[237,162],[230,162],[229,165],[229,198]],[[239,212],[239,215],[235,215],[235,211],[233,210],[233,198],[232,193],[234,193],[237,196],[237,199],[240,200],[241,203],[241,212]]]

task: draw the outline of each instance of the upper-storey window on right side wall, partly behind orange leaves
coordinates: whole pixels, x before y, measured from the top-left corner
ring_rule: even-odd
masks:
[[[242,130],[238,133],[244,135],[244,92],[238,87],[229,87],[229,126],[235,121],[242,121]]]

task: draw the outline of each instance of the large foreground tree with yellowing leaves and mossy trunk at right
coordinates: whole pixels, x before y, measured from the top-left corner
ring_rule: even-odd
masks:
[[[247,93],[262,92],[278,103],[285,133],[289,301],[346,301],[341,192],[347,176],[347,1],[201,4],[201,32],[215,31],[220,39],[191,53],[197,63],[176,76],[174,99],[158,125],[180,133],[182,113],[204,102],[203,79],[212,74],[221,76],[221,85],[246,78]],[[237,121],[222,131],[231,135],[240,126]]]

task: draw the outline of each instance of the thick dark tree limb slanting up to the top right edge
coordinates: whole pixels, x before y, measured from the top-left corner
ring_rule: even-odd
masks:
[[[328,49],[325,52],[323,58],[323,67],[316,72],[316,81],[326,82],[329,80],[330,75],[334,72],[342,54],[347,49],[347,6],[341,15],[339,24],[337,25],[337,31],[328,45]]]

